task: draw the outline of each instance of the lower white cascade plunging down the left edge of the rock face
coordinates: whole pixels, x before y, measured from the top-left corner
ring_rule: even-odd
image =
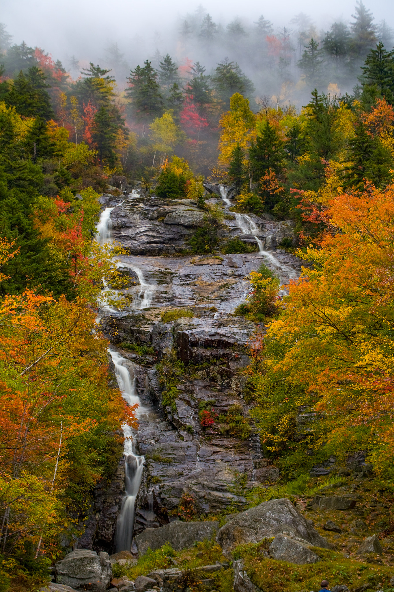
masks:
[[[118,381],[119,389],[122,392],[122,397],[130,406],[135,405],[136,403],[140,404],[139,397],[135,390],[136,378],[131,376],[128,369],[123,366],[123,362],[126,361],[126,358],[123,358],[123,356],[115,350],[109,349],[109,353],[115,366],[115,376]],[[132,364],[132,362],[129,362],[129,364]],[[137,416],[141,416],[142,411],[144,411],[144,409],[139,407]],[[125,424],[122,426],[122,431],[125,436],[123,454],[125,456],[126,495],[123,497],[121,510],[118,514],[118,522],[116,524],[116,552],[130,551],[131,549],[134,529],[135,500],[138,495],[139,485],[141,485],[145,460],[144,456],[139,456],[135,453],[133,441],[134,430]]]

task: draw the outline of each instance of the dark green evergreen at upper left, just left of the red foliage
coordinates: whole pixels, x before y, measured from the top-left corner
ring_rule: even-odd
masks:
[[[41,117],[49,120],[54,117],[51,107],[51,98],[47,92],[50,88],[45,80],[47,77],[37,66],[32,66],[27,71],[27,76],[22,70],[14,83],[9,83],[9,90],[4,96],[7,105],[15,107],[20,115],[25,117]]]

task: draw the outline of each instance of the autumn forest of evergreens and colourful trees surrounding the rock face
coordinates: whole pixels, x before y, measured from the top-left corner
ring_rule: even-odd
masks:
[[[244,70],[228,57],[209,70],[204,50],[203,63],[164,52],[125,72],[113,46],[112,63],[73,57],[68,71],[0,24],[0,591],[45,581],[64,533],[80,535],[93,488],[116,471],[120,426],[138,427],[96,324],[103,305],[129,305],[115,259],[128,250],[97,240],[103,194],[196,202],[200,222],[175,253],[189,259],[257,252],[226,235],[232,213],[291,221],[294,240],[278,247],[302,261],[299,278],[284,294],[257,263],[233,307],[256,327],[242,371],[250,422],[282,493],[330,456],[345,465],[364,451],[376,495],[392,500],[394,37],[362,0],[354,11],[324,34],[301,13],[297,48],[263,16],[251,31],[184,20],[185,45],[202,37],[231,55],[231,35],[255,52]],[[232,188],[228,211],[207,184]],[[163,378],[170,406],[179,377]],[[310,418],[302,437],[299,410]],[[199,413],[204,429],[230,422]]]

